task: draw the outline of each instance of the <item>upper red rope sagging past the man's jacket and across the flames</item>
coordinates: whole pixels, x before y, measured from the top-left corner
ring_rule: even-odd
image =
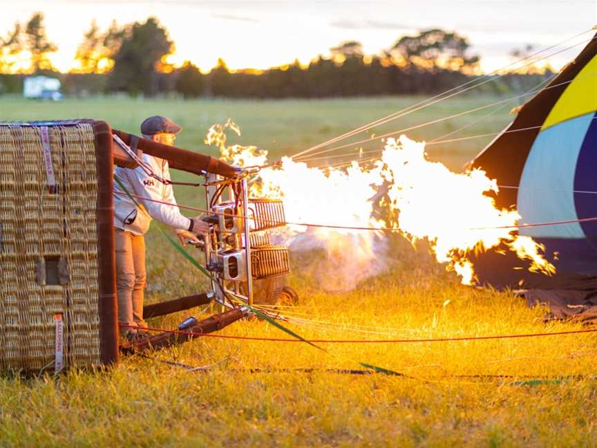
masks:
[[[126,194],[124,192],[119,192],[116,189],[113,189],[112,192],[114,194]],[[222,214],[218,212],[212,212],[211,210],[200,209],[198,207],[191,207],[190,205],[174,205],[171,203],[167,203],[163,200],[158,199],[149,199],[143,198],[142,196],[137,196],[135,194],[127,194],[133,198],[139,198],[142,200],[149,200],[151,202],[160,203],[164,205],[169,205],[170,207],[179,207],[182,209],[189,209],[194,210],[196,212],[202,212],[212,215],[220,215],[220,216],[227,216],[229,218],[245,218],[245,216],[241,215],[233,215],[233,214]],[[275,221],[273,219],[265,219],[265,218],[255,218],[254,216],[248,216],[249,219],[259,219],[260,221],[265,221],[268,223],[276,224],[276,225],[302,225],[305,227],[319,227],[325,229],[338,229],[338,230],[372,230],[377,232],[401,232],[400,229],[396,227],[359,227],[359,226],[349,226],[349,225],[332,225],[332,224],[312,224],[312,223],[293,223],[292,221]],[[597,221],[597,217],[594,218],[579,218],[579,219],[570,219],[567,221],[551,221],[546,223],[527,223],[527,224],[519,224],[519,225],[501,225],[498,227],[469,227],[468,230],[498,230],[498,229],[518,229],[520,227],[543,227],[546,225],[562,225],[562,224],[571,224],[571,223],[589,223],[592,221]]]

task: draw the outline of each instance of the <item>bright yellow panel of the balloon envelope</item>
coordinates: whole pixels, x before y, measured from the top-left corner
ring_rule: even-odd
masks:
[[[597,55],[576,75],[543,123],[541,130],[597,111]]]

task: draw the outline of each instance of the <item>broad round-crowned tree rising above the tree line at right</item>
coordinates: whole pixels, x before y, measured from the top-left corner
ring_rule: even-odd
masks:
[[[392,52],[397,53],[406,64],[429,71],[436,68],[472,71],[477,67],[479,57],[466,55],[470,46],[468,39],[457,32],[433,28],[414,36],[401,37],[392,47]]]

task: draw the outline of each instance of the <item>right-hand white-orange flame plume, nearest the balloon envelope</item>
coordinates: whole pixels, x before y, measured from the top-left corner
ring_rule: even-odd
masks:
[[[481,169],[456,174],[438,162],[426,160],[425,144],[406,136],[388,139],[380,165],[389,176],[388,196],[399,213],[399,229],[409,239],[427,239],[435,258],[447,263],[472,283],[473,265],[468,254],[497,248],[504,243],[520,259],[531,261],[529,270],[553,274],[542,257],[544,248],[528,236],[515,234],[520,214],[498,209],[488,192],[498,192],[495,180]]]

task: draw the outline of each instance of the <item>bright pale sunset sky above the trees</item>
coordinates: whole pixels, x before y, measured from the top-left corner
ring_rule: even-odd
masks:
[[[341,41],[357,40],[368,54],[388,49],[401,36],[426,28],[456,30],[482,57],[482,69],[493,71],[512,59],[513,48],[538,49],[558,44],[597,24],[597,1],[585,0],[0,0],[0,35],[15,21],[26,23],[44,12],[50,40],[59,46],[53,62],[61,71],[73,57],[91,21],[108,28],[157,17],[176,43],[174,63],[189,59],[203,70],[222,57],[229,68],[269,68],[294,59],[308,63]],[[567,44],[571,50],[551,57],[560,68],[576,55],[587,32]]]

